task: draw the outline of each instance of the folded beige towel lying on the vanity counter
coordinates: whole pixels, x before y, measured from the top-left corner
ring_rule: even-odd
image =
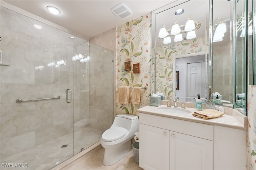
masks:
[[[193,116],[201,119],[213,119],[224,115],[223,112],[214,109],[205,109],[204,111],[197,111],[193,113]]]

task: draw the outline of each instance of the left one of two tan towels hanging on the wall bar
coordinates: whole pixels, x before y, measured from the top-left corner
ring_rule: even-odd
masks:
[[[116,94],[116,103],[128,105],[130,103],[130,87],[119,86]]]

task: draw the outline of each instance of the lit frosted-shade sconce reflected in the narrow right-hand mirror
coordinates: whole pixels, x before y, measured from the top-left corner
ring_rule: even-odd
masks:
[[[218,25],[215,29],[212,42],[222,41],[223,40],[222,38],[224,37],[224,33],[226,33],[226,31],[227,31],[227,27],[226,27],[226,24],[224,23],[223,19],[217,18],[216,20],[219,20],[219,19],[221,21],[220,21],[220,23],[218,23]],[[214,20],[213,25],[215,25],[216,20]]]

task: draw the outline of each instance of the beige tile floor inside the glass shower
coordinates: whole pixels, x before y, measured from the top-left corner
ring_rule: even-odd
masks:
[[[81,152],[82,148],[86,149],[100,141],[102,133],[97,129],[86,127],[80,131],[75,131],[74,134],[65,135],[7,158],[1,157],[1,163],[23,163],[28,165],[19,168],[19,170],[48,170]],[[68,146],[62,148],[63,145]],[[10,170],[10,168],[1,167],[1,170]]]

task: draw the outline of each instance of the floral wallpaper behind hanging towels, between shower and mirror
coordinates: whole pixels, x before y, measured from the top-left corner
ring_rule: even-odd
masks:
[[[142,89],[142,104],[116,104],[116,113],[137,115],[137,109],[149,104],[151,89],[151,14],[129,21],[116,28],[116,92],[118,86],[147,87]],[[131,70],[124,70],[130,61]],[[140,64],[140,73],[133,73],[133,64]],[[130,89],[132,98],[132,88]]]

